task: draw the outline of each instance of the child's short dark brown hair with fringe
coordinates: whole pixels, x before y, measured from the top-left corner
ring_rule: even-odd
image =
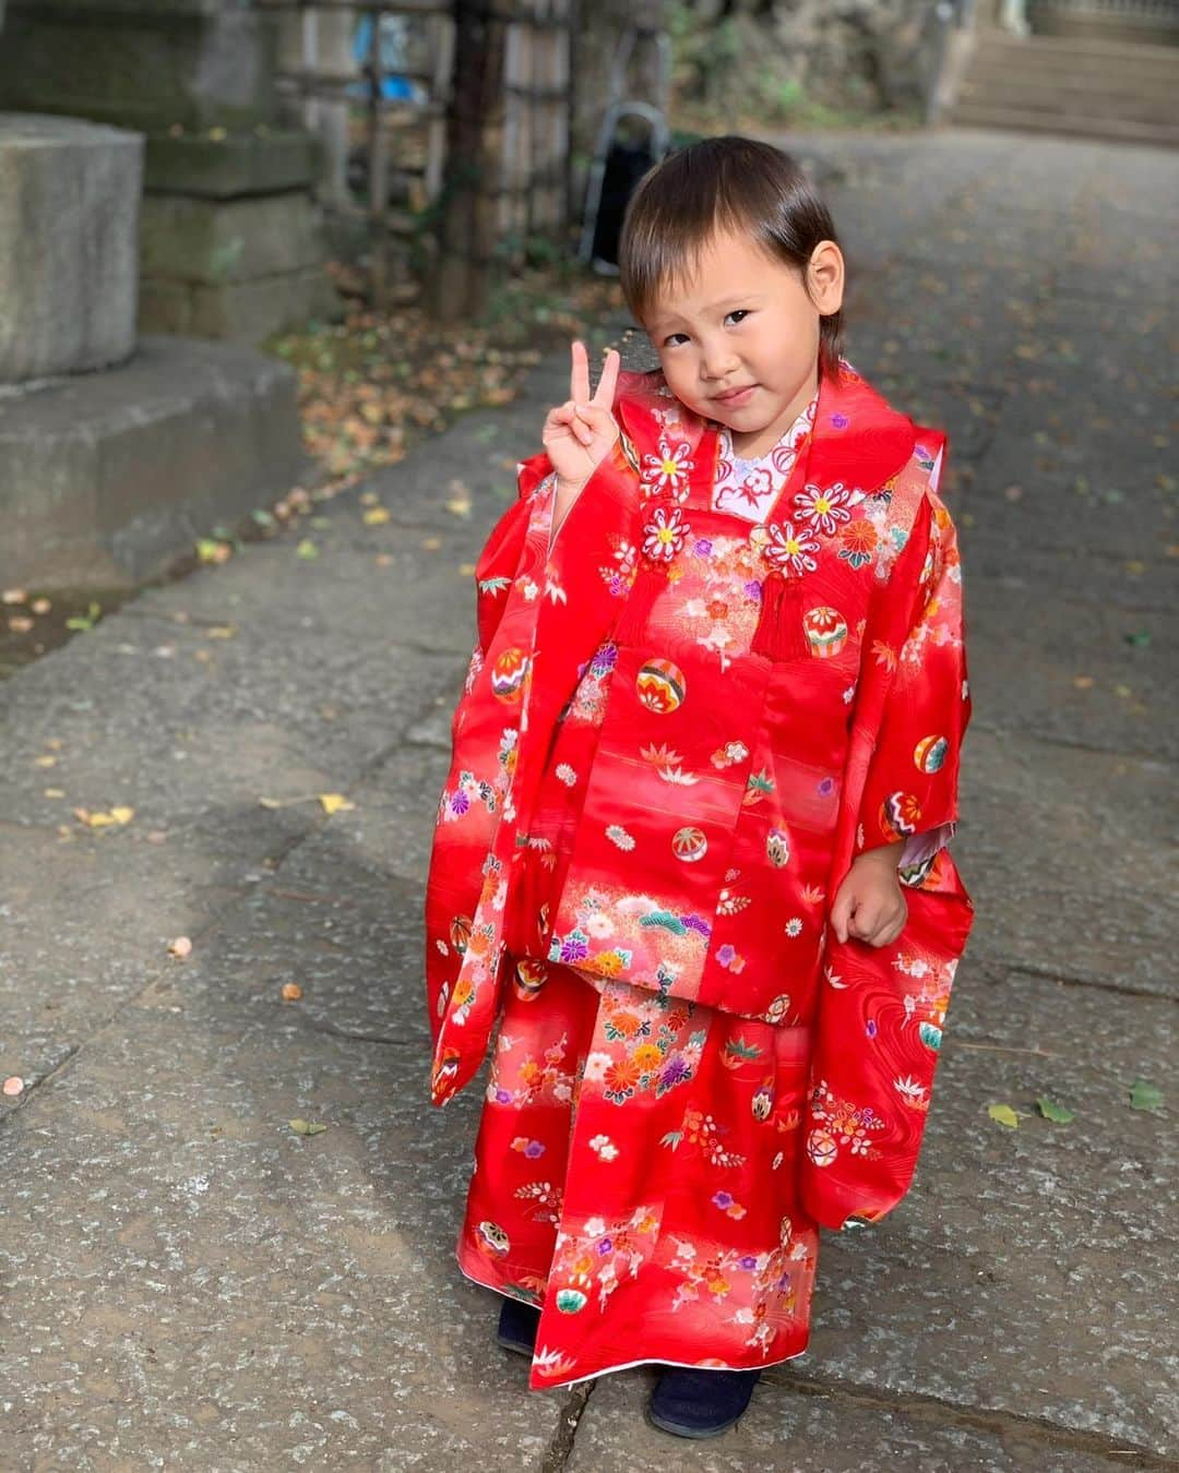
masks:
[[[716,230],[750,236],[794,267],[803,287],[815,246],[839,245],[827,205],[788,153],[755,138],[703,138],[651,169],[626,209],[619,274],[637,323]],[[819,361],[833,377],[839,377],[842,334],[843,312],[819,318]]]

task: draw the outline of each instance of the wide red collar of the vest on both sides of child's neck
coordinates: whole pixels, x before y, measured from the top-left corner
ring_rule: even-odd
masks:
[[[644,455],[659,455],[663,445],[672,452],[685,446],[682,454],[699,461],[706,458],[696,454],[706,449],[702,442],[712,446],[716,443],[715,426],[679,404],[657,371],[620,374],[615,415],[634,445],[640,464]],[[819,377],[815,427],[797,470],[802,470],[805,461],[805,479],[811,485],[825,488],[842,483],[872,492],[905,465],[915,443],[917,427],[912,420],[893,409],[842,358],[837,376]],[[707,480],[710,485],[710,476]]]

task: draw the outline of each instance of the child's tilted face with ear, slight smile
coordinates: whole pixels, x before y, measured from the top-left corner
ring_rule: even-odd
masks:
[[[843,300],[834,242],[815,247],[811,274],[815,300],[794,268],[718,233],[694,273],[668,283],[644,324],[676,399],[728,426],[744,455],[769,451],[815,396],[819,314]]]

